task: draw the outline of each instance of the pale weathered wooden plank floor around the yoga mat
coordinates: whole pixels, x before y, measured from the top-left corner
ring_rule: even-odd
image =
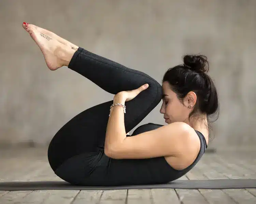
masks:
[[[45,148],[0,150],[0,182],[61,181]],[[182,180],[256,179],[256,152],[205,154]],[[35,190],[0,191],[0,204],[255,204],[256,189]]]

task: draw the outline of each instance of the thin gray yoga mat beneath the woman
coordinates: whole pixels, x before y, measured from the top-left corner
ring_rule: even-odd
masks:
[[[121,190],[121,189],[236,189],[256,188],[256,179],[176,180],[167,184],[129,186],[75,186],[65,181],[0,182],[0,190]]]

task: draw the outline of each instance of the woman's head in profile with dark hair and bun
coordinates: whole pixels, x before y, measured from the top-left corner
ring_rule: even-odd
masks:
[[[191,117],[208,118],[218,110],[217,90],[207,74],[207,57],[185,55],[183,62],[168,69],[163,76],[160,113],[167,123],[189,121]]]

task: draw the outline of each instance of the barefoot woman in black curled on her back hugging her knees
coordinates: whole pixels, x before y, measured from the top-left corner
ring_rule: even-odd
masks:
[[[71,119],[53,137],[48,160],[55,174],[75,185],[160,184],[193,168],[208,145],[208,117],[218,109],[205,56],[186,55],[162,86],[147,74],[78,47],[32,24],[23,28],[50,70],[62,66],[114,94],[112,101]],[[127,135],[163,100],[167,125],[148,123]]]

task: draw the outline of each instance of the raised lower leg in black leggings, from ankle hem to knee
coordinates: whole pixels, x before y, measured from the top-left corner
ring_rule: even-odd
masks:
[[[146,83],[150,86],[148,89],[161,89],[161,85],[146,73],[125,67],[81,47],[74,53],[68,68],[114,95],[120,91],[137,89]]]

